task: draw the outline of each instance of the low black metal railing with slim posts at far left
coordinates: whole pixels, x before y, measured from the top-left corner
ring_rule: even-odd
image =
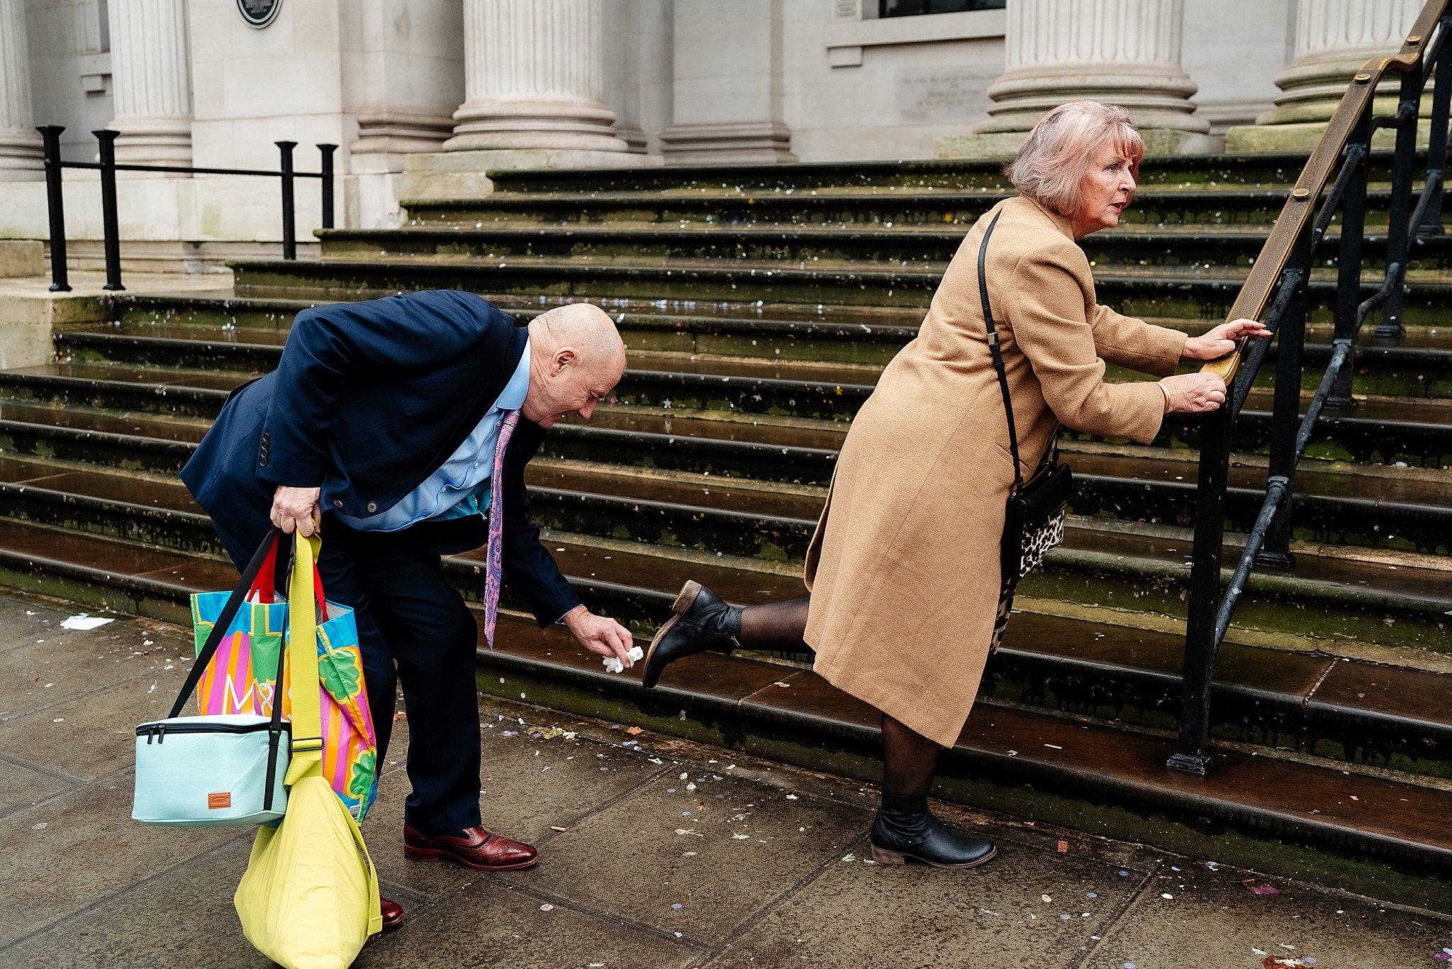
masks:
[[[61,171],[64,169],[93,169],[100,171],[100,219],[106,253],[106,285],[103,289],[125,289],[121,285],[121,216],[116,211],[118,171],[167,171],[171,174],[247,174],[277,179],[282,185],[282,257],[298,259],[298,227],[293,183],[296,179],[322,180],[322,228],[333,228],[333,153],[337,145],[319,144],[318,171],[293,171],[292,150],[296,141],[276,141],[280,153],[277,171],[266,169],[195,169],[190,166],[164,164],[116,164],[116,135],[110,129],[93,131],[99,142],[99,161],[61,161],[62,125],[41,125],[36,128],[45,145],[45,199],[51,221],[51,289],[70,291],[70,276],[65,266],[65,203],[61,196]]]

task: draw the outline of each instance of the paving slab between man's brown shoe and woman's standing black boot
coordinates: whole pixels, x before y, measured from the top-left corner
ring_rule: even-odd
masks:
[[[550,841],[549,864],[530,885],[688,940],[720,941],[861,840],[870,818],[836,800],[680,764]]]

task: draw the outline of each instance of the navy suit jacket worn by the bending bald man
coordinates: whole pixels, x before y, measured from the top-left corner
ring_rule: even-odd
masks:
[[[240,564],[267,535],[277,485],[322,488],[325,514],[391,508],[494,407],[527,338],[513,317],[465,292],[303,309],[277,369],[232,391],[182,481]],[[527,517],[524,465],[543,436],[521,418],[504,455],[504,572],[549,625],[579,597]],[[482,522],[447,523],[457,546],[439,551],[484,545]]]

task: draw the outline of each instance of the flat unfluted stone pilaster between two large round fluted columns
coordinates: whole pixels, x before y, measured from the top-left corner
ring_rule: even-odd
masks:
[[[796,161],[783,121],[781,0],[675,0],[666,164]]]

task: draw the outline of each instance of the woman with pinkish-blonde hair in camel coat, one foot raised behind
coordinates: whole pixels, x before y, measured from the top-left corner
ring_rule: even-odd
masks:
[[[1098,304],[1074,240],[1118,224],[1141,155],[1121,108],[1072,102],[1048,112],[1009,166],[1019,195],[968,231],[918,338],[852,421],[807,551],[810,596],[736,609],[687,583],[652,642],[646,686],[681,655],[807,645],[822,677],[881,710],[883,808],[871,831],[878,861],[971,867],[995,853],[926,805],[937,754],[963,729],[1015,584],[999,567],[1013,459],[977,279],[989,224],[998,219],[989,299],[1025,481],[1060,423],[1149,443],[1167,411],[1220,407],[1220,378],[1172,376],[1176,366],[1266,334],[1240,320],[1186,337]],[[1106,384],[1109,363],[1162,379]]]

